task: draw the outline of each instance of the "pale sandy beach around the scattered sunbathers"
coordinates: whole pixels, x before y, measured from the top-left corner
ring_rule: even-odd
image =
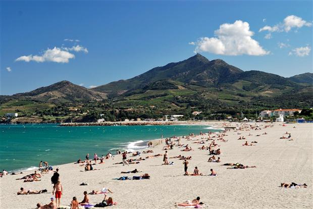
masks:
[[[264,127],[262,124],[258,125]],[[293,126],[296,128],[292,128]],[[106,160],[104,165],[94,166],[101,170],[89,172],[80,172],[83,167],[78,165],[61,165],[59,173],[64,188],[61,205],[69,205],[73,196],[81,201],[85,190],[90,192],[108,187],[114,192],[109,196],[118,202],[118,205],[113,206],[114,208],[174,208],[174,202],[193,199],[196,196],[200,196],[200,201],[206,203],[209,208],[312,208],[312,130],[311,124],[287,124],[283,127],[276,123],[274,127],[257,131],[227,132],[228,136],[224,138],[228,139],[228,142],[216,141],[221,145],[219,148],[222,154],[219,156],[222,163],[208,163],[208,151],[197,149],[202,145],[193,144],[186,139],[182,139],[182,143],[189,143],[194,151],[183,152],[180,151],[182,148],[177,146],[174,146],[174,150],[169,150],[169,156],[192,155],[193,159],[189,161],[189,173],[193,172],[195,166],[204,174],[209,174],[210,169],[213,168],[218,173],[216,177],[183,176],[182,161],[169,159],[175,165],[162,166],[162,156],[130,166],[113,165],[122,161],[121,155],[115,156],[114,160]],[[255,136],[265,131],[267,135]],[[291,133],[293,141],[279,139],[286,131]],[[247,136],[248,133],[253,136]],[[245,140],[237,140],[239,136],[245,136],[248,142],[258,143],[255,146],[242,146]],[[211,141],[205,144],[209,143]],[[162,147],[155,146],[153,154],[164,154]],[[146,155],[150,154],[141,154],[142,157]],[[82,159],[83,156],[82,154]],[[128,158],[129,156],[130,154]],[[224,163],[237,162],[257,168],[235,170],[220,166]],[[135,168],[143,173],[121,174],[121,171],[131,171]],[[35,208],[37,202],[49,202],[52,196],[50,193],[53,186],[50,183],[52,173],[45,174],[38,182],[23,183],[23,180],[15,180],[28,173],[31,172],[1,178],[0,208]],[[148,173],[151,179],[113,180],[123,175],[137,176],[144,173]],[[89,185],[79,186],[82,182],[87,182]],[[308,188],[280,188],[281,182],[306,183]],[[49,193],[17,195],[16,192],[20,187],[33,190],[48,189]],[[97,203],[103,199],[103,195],[89,195],[89,198],[91,203]]]

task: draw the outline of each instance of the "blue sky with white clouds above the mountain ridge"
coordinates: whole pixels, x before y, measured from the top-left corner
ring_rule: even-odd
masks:
[[[102,85],[195,51],[245,71],[284,77],[312,72],[312,6],[311,1],[0,2],[0,94],[61,80]]]

